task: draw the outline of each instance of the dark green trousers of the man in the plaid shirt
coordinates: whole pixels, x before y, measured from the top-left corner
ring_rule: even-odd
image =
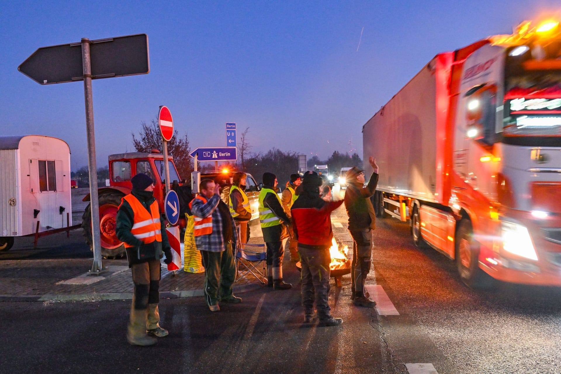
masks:
[[[222,252],[201,251],[205,267],[205,300],[209,306],[232,296],[232,284],[236,279],[232,243],[224,243],[224,247]]]

